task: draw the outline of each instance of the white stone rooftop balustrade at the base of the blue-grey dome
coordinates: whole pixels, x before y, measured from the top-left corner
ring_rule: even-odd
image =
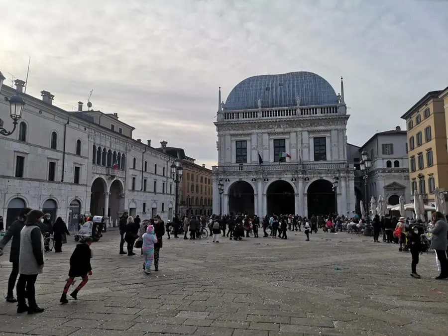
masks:
[[[309,117],[323,115],[343,115],[346,114],[344,105],[328,105],[328,106],[306,106],[291,108],[271,108],[260,110],[235,110],[223,111],[223,117],[218,121],[225,120],[250,120],[250,119],[278,119],[291,117]]]

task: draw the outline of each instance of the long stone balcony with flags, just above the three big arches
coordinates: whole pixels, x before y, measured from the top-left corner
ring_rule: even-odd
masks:
[[[230,164],[213,166],[214,173],[227,173],[238,171],[284,171],[284,170],[327,170],[327,169],[354,169],[352,164],[345,162],[319,162],[319,163],[243,163],[243,164]]]

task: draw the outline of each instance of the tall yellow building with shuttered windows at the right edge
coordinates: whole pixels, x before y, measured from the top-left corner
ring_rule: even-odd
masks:
[[[448,88],[447,90],[448,91]],[[448,151],[444,91],[432,91],[401,116],[406,120],[411,191],[434,202],[434,188],[448,191]],[[446,93],[448,96],[448,93]]]

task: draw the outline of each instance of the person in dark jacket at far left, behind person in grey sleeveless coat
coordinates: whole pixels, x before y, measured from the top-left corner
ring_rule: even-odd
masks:
[[[4,246],[8,243],[8,241],[12,238],[11,242],[11,250],[9,252],[9,262],[12,262],[12,270],[9,275],[8,280],[8,292],[6,295],[7,302],[17,302],[14,298],[13,291],[15,286],[15,280],[17,280],[18,275],[18,260],[20,254],[20,231],[23,226],[25,226],[26,214],[29,213],[31,209],[25,208],[20,211],[17,220],[12,222],[9,225],[8,230],[6,231],[3,239],[0,241],[0,250],[3,250]]]

